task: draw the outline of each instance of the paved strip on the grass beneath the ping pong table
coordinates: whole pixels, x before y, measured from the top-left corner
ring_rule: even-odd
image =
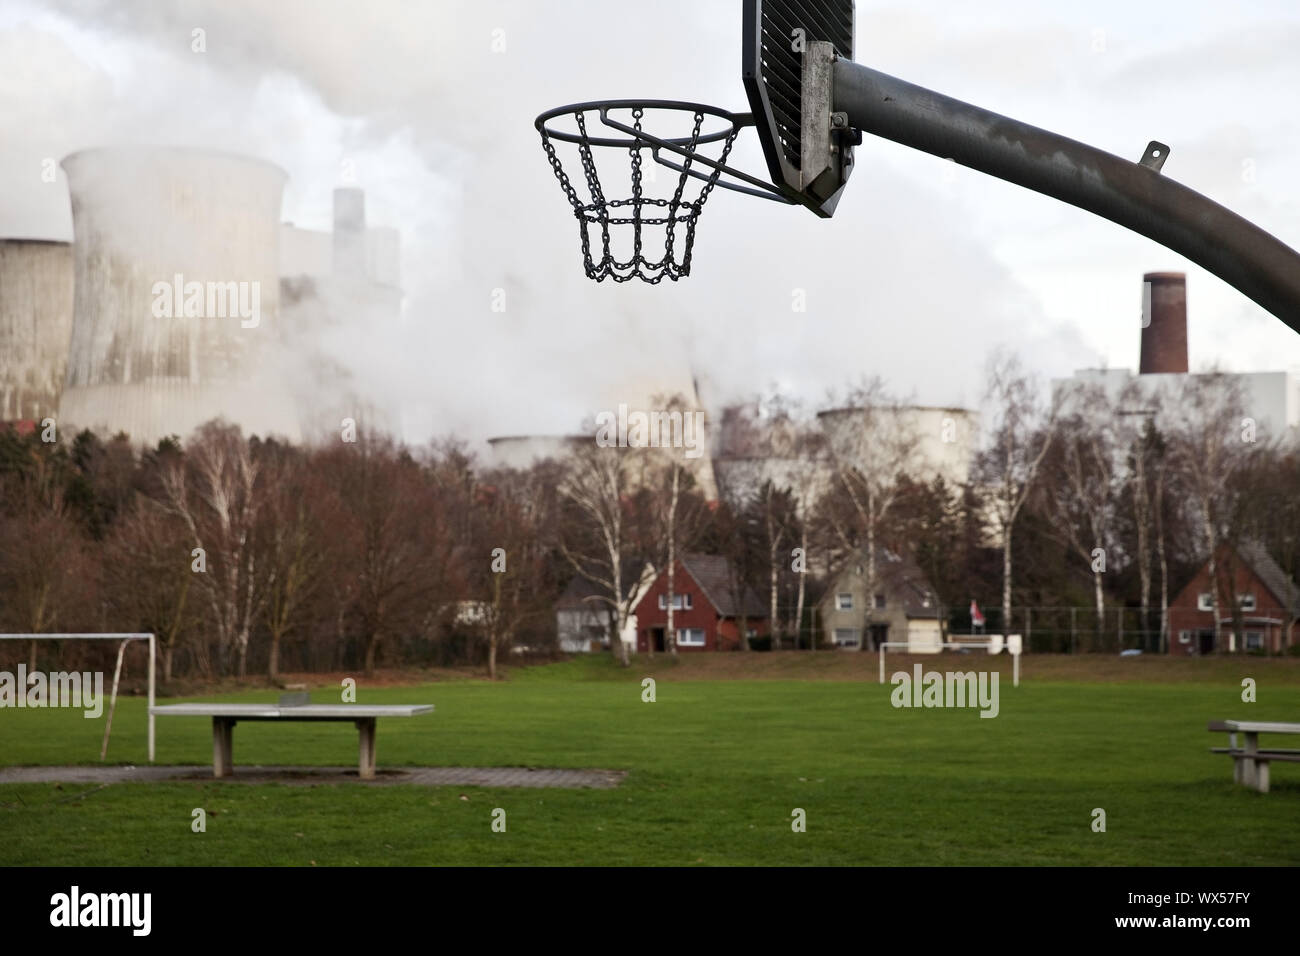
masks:
[[[403,767],[378,770],[369,784],[410,783],[422,787],[594,787],[610,790],[623,783],[625,770],[549,770],[545,767]],[[74,766],[0,767],[0,783],[147,783],[150,780],[212,782],[209,767]],[[233,783],[360,783],[356,767],[240,766]]]

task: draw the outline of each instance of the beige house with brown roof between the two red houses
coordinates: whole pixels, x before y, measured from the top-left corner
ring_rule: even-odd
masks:
[[[915,562],[888,548],[876,549],[875,588],[867,588],[862,551],[832,575],[818,604],[823,640],[841,650],[875,650],[884,641],[907,644],[909,653],[939,653],[942,620],[933,587]]]

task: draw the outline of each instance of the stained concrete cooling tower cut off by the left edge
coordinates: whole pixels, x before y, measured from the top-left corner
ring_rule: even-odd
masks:
[[[72,246],[0,239],[0,421],[57,414],[72,328]]]

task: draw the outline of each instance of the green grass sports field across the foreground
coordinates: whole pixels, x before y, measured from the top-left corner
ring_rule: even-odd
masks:
[[[1205,731],[1212,718],[1300,719],[1296,662],[1208,661],[1176,674],[1144,662],[1102,683],[1087,661],[1040,667],[1075,667],[1079,679],[1035,680],[1027,657],[1022,685],[1002,683],[1001,714],[980,719],[893,709],[868,656],[712,657],[636,661],[630,671],[597,657],[517,669],[495,684],[359,682],[361,702],[437,705],[432,717],[380,722],[381,769],[628,770],[616,790],[9,784],[0,786],[0,864],[1300,864],[1300,765],[1274,763],[1271,793],[1235,787],[1228,758],[1208,752],[1223,735]],[[814,666],[840,679],[774,679]],[[654,704],[641,701],[647,674]],[[1260,702],[1240,701],[1240,674],[1260,682]],[[312,697],[337,700],[325,688]],[[103,721],[79,711],[0,710],[0,765],[98,763],[101,734]],[[355,766],[356,734],[247,723],[234,754],[237,766]],[[144,762],[142,698],[120,701],[109,757]],[[159,718],[157,762],[211,766],[209,722]],[[190,829],[198,806],[208,813],[203,834]],[[1104,834],[1091,829],[1098,806]],[[491,830],[494,808],[506,810],[503,834]],[[806,832],[790,829],[794,808],[807,813]]]

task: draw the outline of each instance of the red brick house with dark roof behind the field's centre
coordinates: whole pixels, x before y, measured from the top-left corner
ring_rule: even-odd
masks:
[[[745,589],[745,630],[749,637],[767,633],[767,613],[751,591]],[[672,627],[677,649],[736,650],[741,640],[731,564],[714,554],[686,554],[673,572]],[[668,649],[668,575],[659,574],[634,607],[637,650]]]

